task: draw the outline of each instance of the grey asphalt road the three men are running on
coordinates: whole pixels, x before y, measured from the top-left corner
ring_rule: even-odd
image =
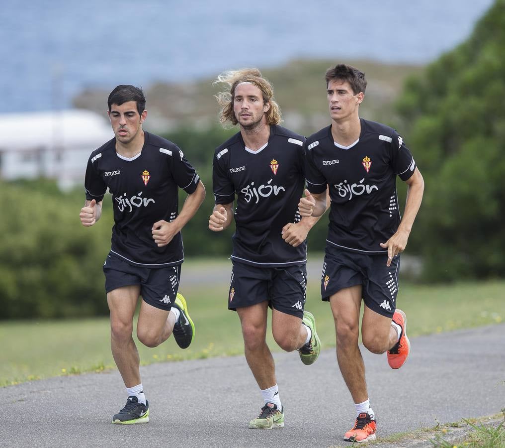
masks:
[[[422,336],[401,369],[362,348],[378,435],[505,407],[505,325]],[[332,349],[313,366],[297,353],[274,355],[285,407],[282,429],[251,430],[262,400],[243,356],[141,369],[150,422],[112,425],[126,401],[117,371],[34,381],[0,389],[3,446],[350,446],[342,434],[354,405]],[[393,445],[392,445],[393,446]]]

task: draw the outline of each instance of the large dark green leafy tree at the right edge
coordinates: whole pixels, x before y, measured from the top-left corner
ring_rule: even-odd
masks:
[[[425,177],[410,246],[431,280],[505,272],[505,0],[472,35],[410,78],[397,110]]]

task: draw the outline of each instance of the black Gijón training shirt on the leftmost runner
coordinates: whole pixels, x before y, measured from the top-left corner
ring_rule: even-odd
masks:
[[[114,208],[111,251],[132,264],[165,267],[183,261],[180,232],[158,247],[152,228],[159,220],[178,215],[178,187],[191,194],[198,174],[179,147],[144,131],[139,155],[126,159],[116,153],[112,139],[91,153],[86,168],[86,199],[101,201],[109,188]]]

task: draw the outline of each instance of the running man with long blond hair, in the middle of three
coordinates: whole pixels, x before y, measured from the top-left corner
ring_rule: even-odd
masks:
[[[316,361],[321,349],[314,316],[304,311],[305,240],[319,219],[298,213],[305,186],[305,138],[279,126],[273,87],[259,70],[226,72],[216,82],[228,89],[217,96],[221,123],[238,123],[240,131],[216,149],[216,205],[209,229],[220,232],[235,217],[228,308],[237,311],[245,357],[264,400],[249,428],[282,428],[284,407],[265,339],[268,307],[282,349],[298,350],[306,365]]]

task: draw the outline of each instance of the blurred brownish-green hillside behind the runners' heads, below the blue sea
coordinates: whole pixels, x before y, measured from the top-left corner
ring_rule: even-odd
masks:
[[[366,99],[361,106],[364,118],[394,122],[392,103],[403,87],[403,81],[418,74],[422,66],[384,65],[370,61],[345,61],[363,70],[367,76]],[[328,122],[324,73],[336,61],[294,60],[286,65],[264,69],[272,81],[280,104],[284,124],[299,132],[313,132]],[[217,73],[216,73],[217,76]],[[147,99],[147,128],[165,132],[180,125],[205,127],[217,123],[218,105],[214,95],[219,87],[215,78],[182,83],[154,83],[144,86]],[[104,113],[108,91],[88,89],[74,98],[79,108]]]

